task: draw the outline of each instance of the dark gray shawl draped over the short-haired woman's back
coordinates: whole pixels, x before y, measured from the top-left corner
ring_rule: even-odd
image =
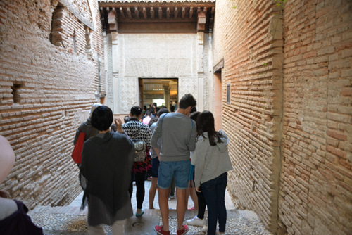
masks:
[[[91,193],[111,208],[113,214],[122,208],[128,197],[134,146],[125,134],[106,132],[84,142],[83,176],[87,179],[85,193]]]

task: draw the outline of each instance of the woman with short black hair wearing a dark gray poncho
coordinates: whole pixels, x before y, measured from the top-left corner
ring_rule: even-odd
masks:
[[[130,194],[134,159],[132,141],[115,119],[119,133],[110,132],[113,113],[99,106],[92,113],[92,125],[99,134],[84,142],[81,172],[87,179],[89,234],[104,234],[101,224],[111,225],[113,235],[124,234],[125,220],[133,215]]]

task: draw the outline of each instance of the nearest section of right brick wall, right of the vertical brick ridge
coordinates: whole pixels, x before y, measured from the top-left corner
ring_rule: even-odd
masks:
[[[352,3],[284,7],[280,228],[352,232]]]

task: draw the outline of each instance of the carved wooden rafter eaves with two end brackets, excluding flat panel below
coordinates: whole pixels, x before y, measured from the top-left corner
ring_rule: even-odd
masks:
[[[196,30],[211,32],[215,1],[99,1],[103,28],[118,31],[119,23],[194,23]]]

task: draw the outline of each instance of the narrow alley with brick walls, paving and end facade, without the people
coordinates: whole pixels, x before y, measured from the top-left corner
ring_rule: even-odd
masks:
[[[85,234],[71,155],[92,105],[124,120],[184,94],[228,137],[228,235],[351,234],[351,0],[1,0],[0,191]],[[161,223],[145,208],[128,233]]]

